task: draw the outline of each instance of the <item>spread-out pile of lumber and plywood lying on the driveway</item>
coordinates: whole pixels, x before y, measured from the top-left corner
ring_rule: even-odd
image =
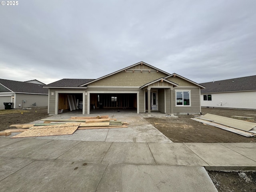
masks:
[[[105,129],[105,128],[127,128],[128,123],[108,118],[108,116],[96,117],[71,117],[70,119],[42,119],[41,124],[15,124],[10,125],[12,129],[0,132],[0,135],[8,136],[12,132],[27,132],[18,134],[17,137],[34,136],[56,136],[73,134],[76,130],[84,129]],[[15,129],[13,129],[15,128]],[[32,131],[31,131],[32,130]],[[70,131],[71,130],[71,131]]]

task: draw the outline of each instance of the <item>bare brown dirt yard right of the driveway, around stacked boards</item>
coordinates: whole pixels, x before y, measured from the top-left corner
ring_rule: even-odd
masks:
[[[236,115],[256,118],[256,110],[202,108],[202,115],[206,113],[225,117]],[[178,118],[146,118],[146,120],[176,143],[256,142],[256,137],[245,137],[210,125],[204,125],[191,120],[192,117],[194,116],[179,115]]]

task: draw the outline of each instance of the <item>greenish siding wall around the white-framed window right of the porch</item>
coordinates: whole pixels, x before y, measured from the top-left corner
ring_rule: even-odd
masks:
[[[190,106],[176,106],[175,90],[190,90]],[[199,87],[175,87],[173,90],[174,114],[200,114],[200,88]]]

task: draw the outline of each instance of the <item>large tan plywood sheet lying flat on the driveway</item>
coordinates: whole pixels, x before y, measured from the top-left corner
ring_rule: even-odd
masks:
[[[77,130],[79,125],[80,123],[68,123],[61,125],[34,126],[12,138],[71,135]]]

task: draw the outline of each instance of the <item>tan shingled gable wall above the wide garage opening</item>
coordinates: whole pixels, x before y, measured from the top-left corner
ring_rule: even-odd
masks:
[[[122,71],[104,79],[89,84],[90,86],[143,86],[151,81],[165,77],[162,72]]]

